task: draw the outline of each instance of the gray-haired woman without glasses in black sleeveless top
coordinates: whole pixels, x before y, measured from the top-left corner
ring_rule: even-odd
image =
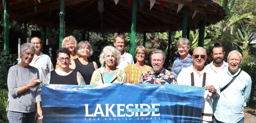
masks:
[[[93,71],[98,69],[96,62],[88,59],[92,52],[91,44],[88,41],[79,42],[76,46],[76,54],[79,57],[72,60],[69,66],[82,74],[85,84],[90,84]]]

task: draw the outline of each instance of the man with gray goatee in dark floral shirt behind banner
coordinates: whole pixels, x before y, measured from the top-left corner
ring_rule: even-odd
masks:
[[[140,84],[177,84],[175,75],[163,68],[165,53],[162,50],[151,52],[150,61],[153,70],[142,73]]]

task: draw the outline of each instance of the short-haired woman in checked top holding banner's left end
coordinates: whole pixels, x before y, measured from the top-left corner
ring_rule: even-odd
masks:
[[[38,69],[30,66],[35,47],[30,43],[20,47],[21,62],[12,66],[8,73],[7,117],[9,123],[33,123],[35,113],[43,119],[41,107],[41,88]]]

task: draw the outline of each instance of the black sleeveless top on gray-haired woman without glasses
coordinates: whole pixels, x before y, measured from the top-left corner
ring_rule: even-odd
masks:
[[[75,60],[75,70],[77,70],[78,72],[80,72],[84,78],[85,84],[90,84],[91,83],[91,78],[92,78],[92,74],[95,70],[94,65],[93,65],[93,61],[88,62],[87,65],[83,65],[78,58],[76,58]]]

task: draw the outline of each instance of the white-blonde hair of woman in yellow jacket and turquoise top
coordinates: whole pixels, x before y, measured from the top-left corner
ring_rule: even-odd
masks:
[[[121,52],[119,50],[117,50],[116,48],[112,47],[112,46],[104,47],[104,49],[100,53],[100,64],[102,66],[106,65],[104,57],[105,57],[105,53],[107,51],[110,51],[114,55],[114,57],[116,58],[116,66],[118,66],[121,62],[121,59],[120,59]]]

